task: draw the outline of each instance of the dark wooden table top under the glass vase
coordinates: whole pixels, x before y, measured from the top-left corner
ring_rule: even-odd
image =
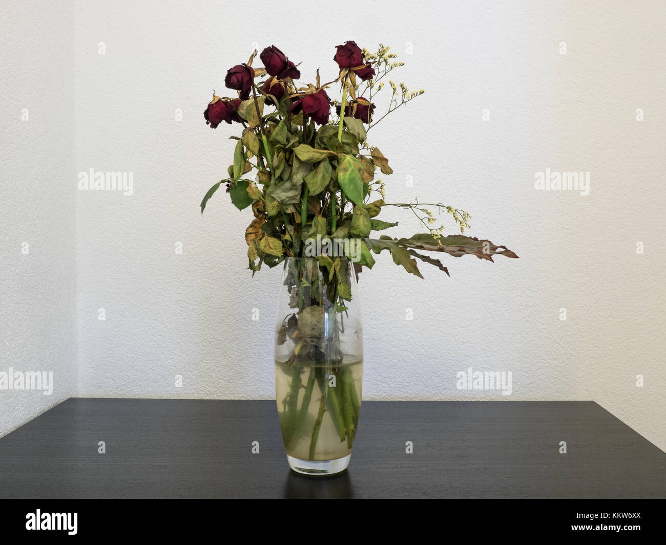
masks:
[[[666,453],[593,401],[364,401],[323,478],[274,401],[68,399],[0,439],[0,498],[183,497],[664,498]]]

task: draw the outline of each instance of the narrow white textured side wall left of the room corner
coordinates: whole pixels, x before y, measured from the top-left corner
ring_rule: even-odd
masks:
[[[73,2],[4,0],[0,57],[0,372],[53,373],[0,389],[1,436],[76,390]]]

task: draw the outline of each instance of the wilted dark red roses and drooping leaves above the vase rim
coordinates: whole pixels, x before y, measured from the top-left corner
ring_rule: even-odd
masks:
[[[390,81],[388,110],[378,117],[372,100],[384,89],[386,75],[403,65],[389,51],[380,45],[376,53],[369,53],[354,41],[338,45],[334,61],[340,73],[323,85],[318,72],[315,85],[297,85],[298,67],[274,45],[259,55],[263,68],[252,67],[255,51],[246,64],[229,69],[224,82],[238,91],[238,97],[214,95],[204,117],[212,128],[222,121],[237,122],[242,134],[231,137],[238,143],[228,178],[208,190],[201,212],[222,184],[239,210],[252,206],[254,220],[245,232],[245,242],[253,272],[262,263],[274,267],[285,256],[314,257],[322,252],[340,256],[343,250],[354,261],[357,274],[363,266],[374,265],[370,250],[375,254],[388,250],[396,264],[417,276],[421,273],[416,260],[448,273],[440,260],[420,251],[456,257],[474,254],[490,261],[494,254],[517,257],[489,240],[463,236],[470,216],[462,210],[418,200],[384,201],[384,182],[375,179],[376,170],[387,175],[393,171],[380,149],[368,143],[368,130],[424,92],[410,92],[404,83],[398,86]],[[258,78],[264,81],[257,83]],[[340,103],[326,92],[334,85],[341,87]],[[373,193],[380,198],[372,200]],[[409,208],[429,232],[410,238],[370,238],[372,231],[397,225],[377,219],[390,206]],[[461,234],[442,236],[444,227],[433,226],[436,218],[427,206],[451,214]]]

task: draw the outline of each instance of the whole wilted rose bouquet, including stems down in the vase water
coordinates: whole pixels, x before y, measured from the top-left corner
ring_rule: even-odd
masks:
[[[301,460],[340,458],[352,447],[360,407],[358,367],[343,365],[350,358],[362,360],[362,349],[352,346],[360,342],[360,323],[350,315],[352,285],[363,267],[374,265],[372,253],[388,250],[396,264],[419,277],[417,260],[448,274],[440,260],[422,252],[472,254],[490,261],[494,254],[517,256],[489,240],[464,236],[470,216],[462,210],[442,203],[384,200],[384,182],[375,178],[376,171],[388,175],[392,169],[368,142],[368,130],[424,92],[389,81],[388,108],[382,115],[376,112],[374,100],[384,90],[386,76],[403,64],[388,47],[380,45],[370,53],[353,41],[338,45],[333,57],[338,77],[322,84],[317,71],[315,83],[308,85],[295,83],[300,71],[277,47],[262,51],[260,68],[252,66],[256,53],[226,74],[226,87],[238,95],[220,98],[213,93],[204,112],[212,128],[235,122],[242,132],[231,136],[237,140],[233,164],[228,176],[208,190],[201,211],[225,184],[236,208],[252,208],[245,242],[253,274],[264,263],[274,267],[286,260],[289,308],[283,319],[278,315],[276,326],[284,444]],[[340,102],[329,96],[338,87]],[[428,232],[370,238],[372,231],[397,225],[378,218],[392,206],[412,210]],[[460,234],[443,236],[444,227],[434,225],[433,209],[451,214]],[[345,335],[350,335],[348,347]],[[338,387],[330,384],[333,376],[342,381]],[[315,384],[319,407],[310,412]],[[322,429],[327,432],[320,436]]]

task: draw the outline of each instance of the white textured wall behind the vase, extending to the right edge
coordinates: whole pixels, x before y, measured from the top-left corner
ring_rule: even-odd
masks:
[[[407,63],[396,79],[427,90],[370,132],[394,168],[389,200],[468,210],[470,234],[521,259],[445,258],[451,278],[423,266],[421,280],[381,256],[361,284],[364,397],[498,399],[459,391],[456,372],[511,371],[513,399],[595,399],[666,448],[666,7],[344,5],[343,25],[340,3],[76,3],[75,172],[134,174],[132,196],[77,195],[79,395],[272,397],[279,272],[245,270],[251,215],[223,192],[199,214],[234,134],[202,112],[254,42],[328,81],[335,45],[384,41]],[[589,196],[535,191],[546,168],[591,172]],[[396,235],[419,230],[398,217]]]

